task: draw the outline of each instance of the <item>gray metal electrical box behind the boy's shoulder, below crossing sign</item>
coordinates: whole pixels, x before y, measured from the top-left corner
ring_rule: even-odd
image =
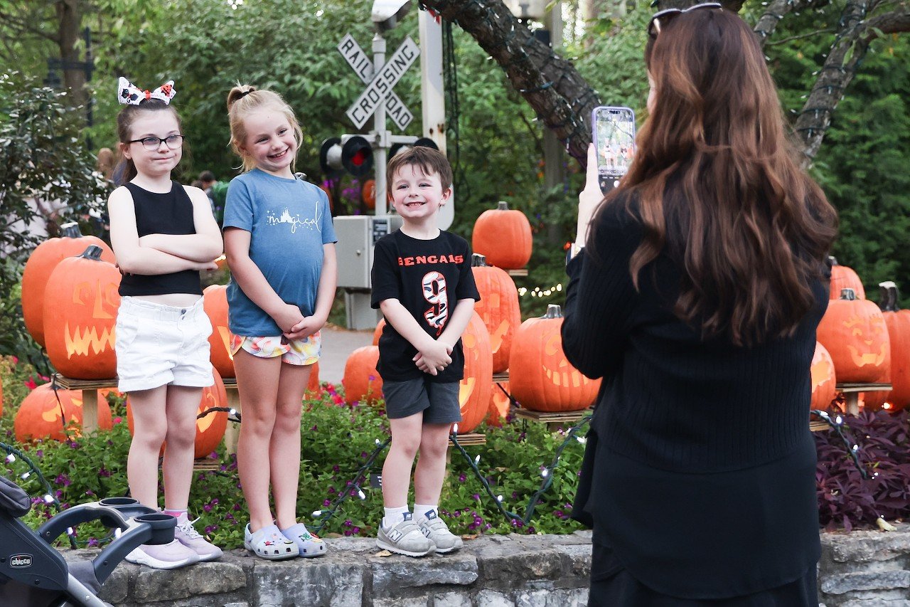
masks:
[[[381,313],[369,305],[369,271],[373,267],[373,246],[380,238],[401,227],[399,215],[343,215],[334,220],[335,245],[340,289],[345,292],[349,329],[372,329]]]

